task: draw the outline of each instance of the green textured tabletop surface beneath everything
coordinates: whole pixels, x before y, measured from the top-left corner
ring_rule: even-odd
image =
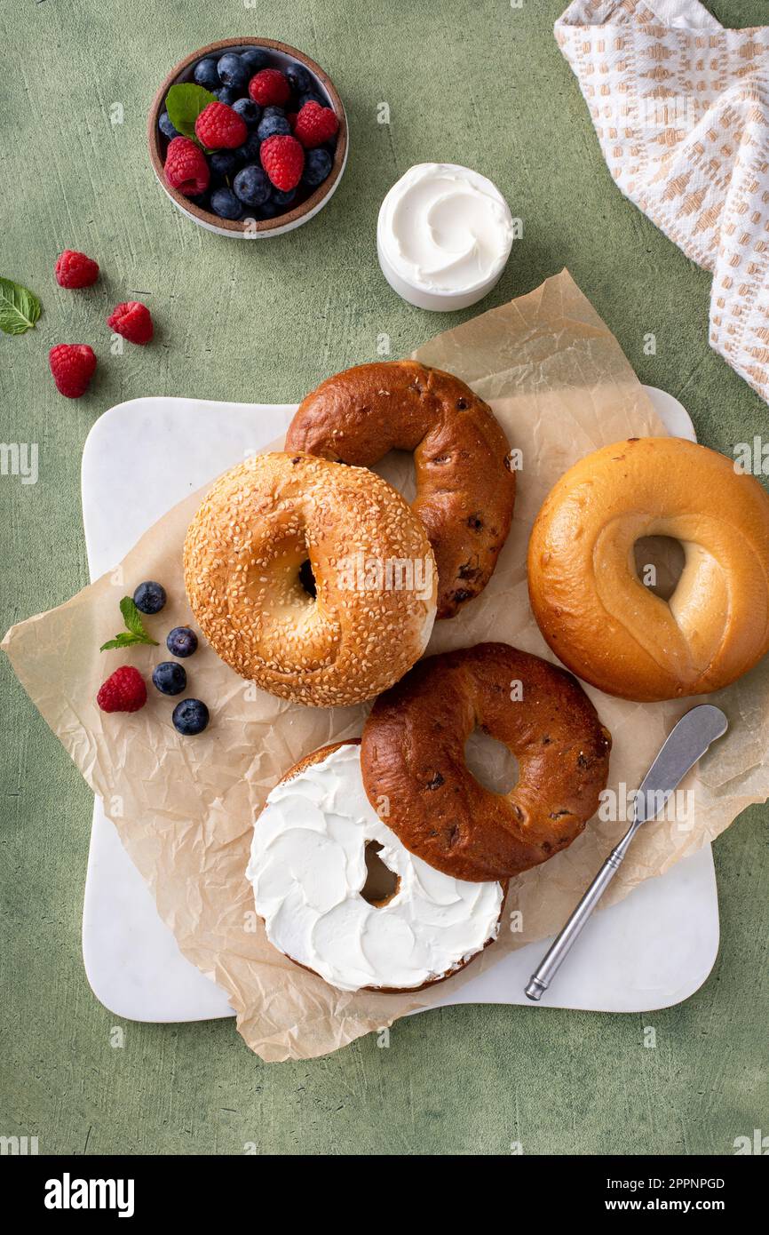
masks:
[[[767,406],[707,347],[709,277],[613,186],[576,83],[552,37],[565,0],[16,0],[0,9],[4,233],[0,273],[43,300],[37,330],[0,337],[4,441],[39,443],[39,482],[0,478],[0,627],[88,582],[79,471],[94,420],[144,394],[284,401],[449,325],[401,303],[374,252],[379,203],[412,163],[469,163],[525,221],[486,301],[568,266],[643,382],[678,395],[700,438],[731,451],[765,432]],[[721,0],[734,26],[763,0]],[[264,35],[332,75],[351,121],[347,174],[309,226],[272,242],[220,240],[156,184],[147,106],[168,68],[215,38]],[[390,106],[390,125],[376,121]],[[122,125],[110,124],[121,103]],[[59,290],[56,254],[104,275]],[[154,346],[109,356],[104,316],[146,299]],[[472,312],[469,310],[468,312]],[[459,315],[458,315],[459,316]],[[458,320],[458,319],[452,319]],[[657,354],[643,354],[643,336]],[[98,380],[58,396],[53,342],[90,342]],[[309,1063],[262,1065],[232,1023],[123,1023],[91,994],[80,914],[93,798],[12,678],[2,674],[0,1134],[41,1152],[274,1153],[733,1152],[769,1132],[769,813],[715,846],[722,946],[705,987],[653,1014],[457,1008],[401,1021]],[[657,1047],[643,1046],[643,1028]]]

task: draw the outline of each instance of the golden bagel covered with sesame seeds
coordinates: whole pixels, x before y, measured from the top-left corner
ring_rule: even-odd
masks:
[[[432,550],[400,494],[310,454],[257,454],[220,477],[188,530],[184,579],[227,664],[315,708],[385,690],[436,615]]]

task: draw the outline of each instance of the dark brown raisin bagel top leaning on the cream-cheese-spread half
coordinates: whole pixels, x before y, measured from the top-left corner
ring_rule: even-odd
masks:
[[[520,777],[490,793],[469,772],[475,727],[504,742]],[[369,802],[406,848],[458,879],[504,879],[583,831],[606,787],[611,735],[578,682],[507,643],[420,661],[374,704],[360,766]]]

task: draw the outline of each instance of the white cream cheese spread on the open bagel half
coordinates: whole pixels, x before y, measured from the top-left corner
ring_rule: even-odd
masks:
[[[367,841],[400,881],[380,906],[360,895]],[[421,987],[499,934],[501,884],[454,879],[410,853],[370,805],[354,745],[273,789],[246,877],[270,942],[342,990]]]

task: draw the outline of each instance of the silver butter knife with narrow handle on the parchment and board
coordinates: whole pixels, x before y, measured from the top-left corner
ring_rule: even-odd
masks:
[[[565,926],[542,958],[542,963],[532,973],[528,986],[525,989],[528,999],[536,1003],[548,989],[590,914],[620,869],[620,865],[641,825],[657,818],[689,769],[694,767],[697,760],[702,758],[711,742],[715,742],[717,737],[722,737],[726,734],[727,729],[728,720],[721,709],[705,703],[697,708],[692,708],[685,716],[681,716],[678,725],[670,731],[636,794],[631,826],[620,844],[612,848]]]

